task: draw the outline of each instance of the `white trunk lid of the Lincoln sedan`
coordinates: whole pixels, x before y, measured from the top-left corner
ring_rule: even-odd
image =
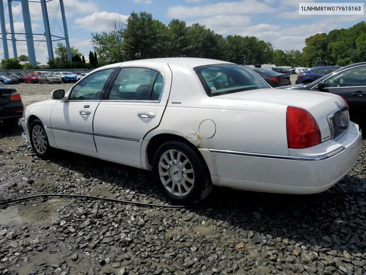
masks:
[[[345,129],[339,129],[339,127],[341,127],[339,125],[333,125],[333,129],[330,128],[330,124],[333,124],[335,116],[337,116],[337,118],[334,123],[340,123],[339,113],[336,111],[341,107],[346,106],[339,96],[333,94],[305,90],[294,91],[292,89],[272,88],[237,92],[227,95],[214,96],[213,98],[252,100],[256,102],[266,102],[303,108],[309,111],[309,113],[313,115],[317,121],[321,132],[322,142],[331,139],[334,132],[337,132],[337,135],[339,135],[340,131],[345,131]],[[329,116],[327,117],[327,115]]]

